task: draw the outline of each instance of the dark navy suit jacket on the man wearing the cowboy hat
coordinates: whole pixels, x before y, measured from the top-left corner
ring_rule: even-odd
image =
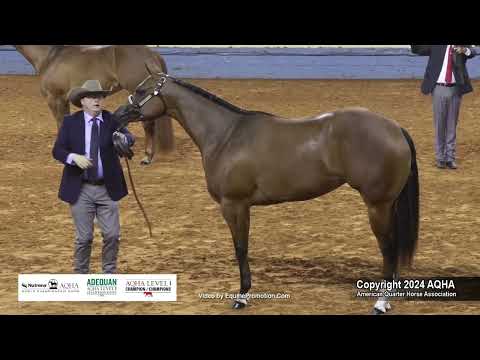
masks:
[[[118,201],[128,194],[120,159],[112,142],[112,134],[117,129],[118,124],[108,111],[102,112],[102,118],[99,147],[103,176],[110,198],[113,201]],[[127,136],[130,145],[133,145],[135,142],[134,136],[127,129],[120,131]],[[85,117],[83,111],[65,116],[52,151],[53,157],[65,164],[58,196],[63,201],[75,204],[80,196],[84,170],[76,165],[66,163],[70,153],[85,154]]]

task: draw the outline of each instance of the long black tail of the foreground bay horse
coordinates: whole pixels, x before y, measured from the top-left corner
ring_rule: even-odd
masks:
[[[405,129],[402,132],[410,146],[412,160],[408,181],[394,204],[393,238],[400,264],[410,266],[418,243],[420,186],[415,144]]]

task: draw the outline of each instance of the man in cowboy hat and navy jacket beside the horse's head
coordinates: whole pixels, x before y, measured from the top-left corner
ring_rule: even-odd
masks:
[[[94,219],[102,230],[102,269],[115,273],[120,239],[118,201],[128,194],[117,144],[133,146],[126,129],[117,131],[112,114],[103,110],[110,91],[98,80],[72,89],[69,100],[82,111],[65,116],[53,157],[65,165],[59,198],[70,204],[76,228],[74,272],[90,272]],[[114,145],[115,143],[115,145]]]

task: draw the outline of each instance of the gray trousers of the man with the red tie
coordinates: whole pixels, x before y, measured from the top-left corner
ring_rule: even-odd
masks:
[[[462,95],[458,87],[436,86],[433,90],[433,122],[437,161],[454,161],[457,125]]]

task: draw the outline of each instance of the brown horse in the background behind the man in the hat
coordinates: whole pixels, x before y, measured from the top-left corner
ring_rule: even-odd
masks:
[[[66,46],[14,45],[40,76],[41,94],[60,128],[63,117],[70,114],[68,93],[90,79],[99,80],[113,93],[122,89],[132,93],[148,75],[144,63],[167,72],[164,59],[143,45]],[[174,149],[172,121],[168,117],[143,123],[145,157],[150,164],[155,152]]]

